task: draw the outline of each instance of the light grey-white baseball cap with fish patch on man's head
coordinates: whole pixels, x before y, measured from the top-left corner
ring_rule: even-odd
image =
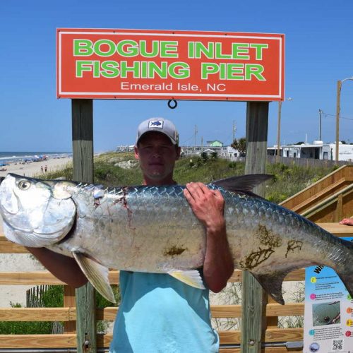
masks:
[[[164,133],[169,137],[173,145],[179,144],[179,133],[172,121],[163,118],[150,118],[143,121],[137,128],[136,145],[140,138],[150,131]]]

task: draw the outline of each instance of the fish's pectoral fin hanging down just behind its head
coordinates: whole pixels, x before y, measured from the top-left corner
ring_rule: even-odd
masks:
[[[72,254],[92,286],[95,287],[104,298],[115,303],[114,293],[108,279],[108,268],[92,260],[92,258],[85,256],[84,253],[73,251]]]

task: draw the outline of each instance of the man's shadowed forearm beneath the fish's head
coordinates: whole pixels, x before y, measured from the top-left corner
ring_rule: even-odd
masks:
[[[88,280],[81,271],[74,258],[54,253],[47,248],[26,247],[42,265],[56,278],[67,285],[78,288],[85,285]]]

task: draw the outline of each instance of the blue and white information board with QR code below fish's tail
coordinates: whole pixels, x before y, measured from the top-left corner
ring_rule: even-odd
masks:
[[[303,352],[353,352],[353,298],[332,268],[306,268]]]

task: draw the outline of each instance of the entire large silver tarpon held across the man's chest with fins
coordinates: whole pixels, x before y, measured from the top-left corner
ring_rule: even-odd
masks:
[[[254,195],[267,175],[208,184],[225,198],[227,238],[235,268],[251,272],[280,304],[282,281],[309,265],[333,268],[353,296],[353,244],[297,213]],[[73,181],[8,174],[0,185],[6,237],[23,246],[73,256],[92,285],[114,301],[108,268],[169,273],[203,288],[205,228],[184,186],[102,189]]]

